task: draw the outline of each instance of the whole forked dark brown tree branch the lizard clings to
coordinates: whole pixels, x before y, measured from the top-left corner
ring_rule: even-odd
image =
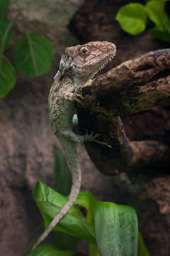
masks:
[[[119,114],[132,114],[155,106],[170,105],[170,49],[156,50],[91,80],[81,88],[84,107],[79,106],[81,132],[100,133],[112,145],[86,143],[86,149],[99,171],[119,171],[167,164],[169,147],[162,142],[128,139]],[[86,108],[85,108],[86,107]]]

